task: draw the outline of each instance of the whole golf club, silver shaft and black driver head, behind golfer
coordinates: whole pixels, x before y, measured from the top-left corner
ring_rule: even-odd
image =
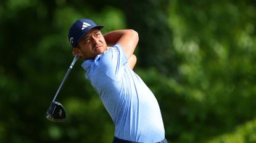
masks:
[[[60,102],[58,101],[55,101],[59,91],[60,91],[60,88],[62,87],[63,83],[65,82],[65,80],[67,79],[67,76],[69,74],[69,72],[71,71],[71,69],[73,68],[76,60],[78,60],[79,56],[78,55],[75,55],[72,63],[70,64],[69,68],[68,68],[68,71],[67,73],[65,74],[64,76],[64,79],[62,80],[62,82],[60,83],[60,87],[59,89],[57,90],[56,92],[56,95],[54,96],[54,98],[52,99],[52,102],[49,106],[49,109],[47,110],[46,112],[46,118],[52,122],[62,122],[65,120],[65,117],[66,117],[66,113],[65,113],[65,109],[64,107],[62,106],[62,104],[60,104]]]

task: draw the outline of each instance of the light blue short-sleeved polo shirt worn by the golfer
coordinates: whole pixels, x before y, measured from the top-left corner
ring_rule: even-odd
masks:
[[[123,48],[116,44],[81,66],[114,122],[115,137],[160,142],[165,130],[157,99],[127,61]]]

